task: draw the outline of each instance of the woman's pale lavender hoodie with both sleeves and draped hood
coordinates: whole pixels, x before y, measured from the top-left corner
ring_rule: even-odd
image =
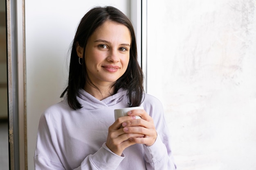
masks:
[[[162,104],[145,94],[141,106],[153,118],[157,139],[152,146],[135,144],[121,156],[106,146],[114,109],[127,106],[126,90],[98,100],[79,90],[82,108],[73,110],[63,101],[42,114],[38,127],[34,165],[36,170],[174,170],[170,137]]]

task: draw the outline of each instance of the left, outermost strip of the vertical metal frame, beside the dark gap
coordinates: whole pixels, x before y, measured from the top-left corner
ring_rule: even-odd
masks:
[[[9,119],[9,169],[18,170],[18,82],[16,51],[16,1],[7,0],[7,71]]]

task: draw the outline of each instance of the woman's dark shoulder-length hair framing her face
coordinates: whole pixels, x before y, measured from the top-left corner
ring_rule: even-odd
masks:
[[[123,24],[129,29],[131,35],[130,60],[128,68],[113,85],[115,89],[114,93],[116,94],[120,88],[127,89],[129,107],[139,106],[143,100],[143,72],[137,61],[136,37],[130,20],[126,15],[124,15],[124,13],[115,7],[95,7],[84,15],[77,27],[71,47],[68,85],[61,94],[62,98],[65,93],[67,93],[68,104],[74,110],[82,107],[81,103],[77,100],[77,96],[79,95],[79,89],[83,88],[85,83],[90,83],[90,85],[97,88],[88,78],[85,64],[79,64],[79,58],[76,53],[76,44],[78,43],[79,46],[85,49],[89,37],[106,21]],[[85,50],[83,51],[83,61],[85,61]]]

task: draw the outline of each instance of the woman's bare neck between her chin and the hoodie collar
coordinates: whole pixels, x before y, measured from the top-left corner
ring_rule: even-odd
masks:
[[[97,89],[97,88],[98,89]],[[112,96],[114,94],[114,87],[112,85],[97,85],[96,87],[93,87],[89,83],[85,83],[84,90],[85,92],[88,92],[98,100],[103,100],[109,96]]]

